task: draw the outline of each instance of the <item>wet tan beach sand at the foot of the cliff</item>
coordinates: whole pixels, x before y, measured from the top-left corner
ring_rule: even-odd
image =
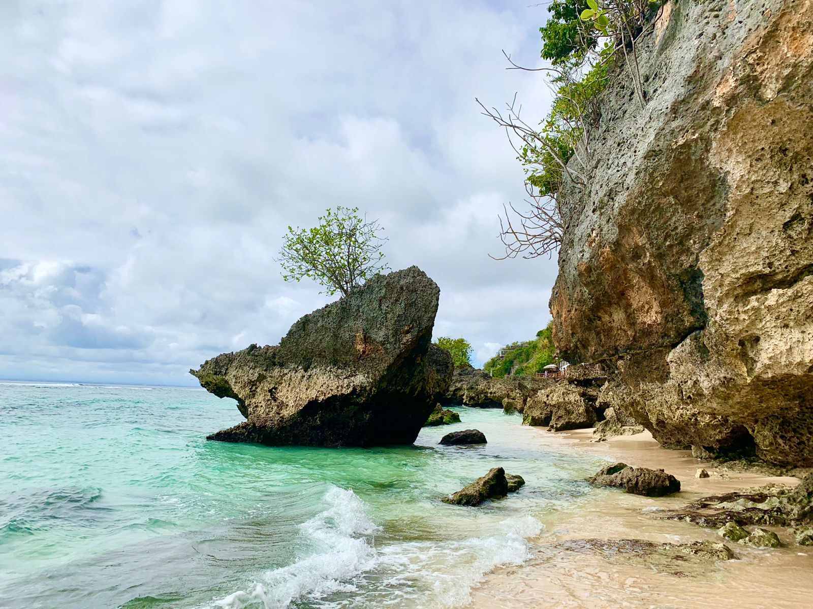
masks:
[[[589,451],[610,462],[623,461],[663,468],[680,480],[680,493],[648,498],[606,490],[570,514],[543,518],[545,533],[533,540],[533,556],[519,567],[500,568],[472,590],[470,607],[514,609],[797,609],[813,607],[813,548],[793,545],[782,529],[784,547],[757,549],[728,542],[715,531],[653,517],[659,508],[680,508],[693,499],[769,482],[795,485],[795,477],[728,471],[694,459],[690,451],[660,447],[645,432],[592,443],[592,430],[554,434],[540,428],[550,451]],[[704,467],[708,478],[696,478]],[[654,561],[618,554],[607,557],[570,542],[588,538],[644,539],[650,542],[725,542],[736,560],[715,564],[675,564],[664,568]],[[565,544],[566,545],[566,544]],[[632,563],[632,564],[631,564]]]

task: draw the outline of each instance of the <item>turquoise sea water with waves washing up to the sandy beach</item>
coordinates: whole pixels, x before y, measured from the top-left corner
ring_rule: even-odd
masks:
[[[464,606],[601,462],[457,410],[410,447],[263,447],[207,442],[242,419],[199,389],[0,383],[0,607]],[[489,443],[437,444],[469,427]],[[526,486],[439,500],[498,465]]]

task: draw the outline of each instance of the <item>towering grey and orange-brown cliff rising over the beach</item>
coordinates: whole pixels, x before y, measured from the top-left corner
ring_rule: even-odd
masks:
[[[560,192],[554,340],[664,445],[813,465],[813,2],[670,0],[653,25],[646,105],[620,67]]]

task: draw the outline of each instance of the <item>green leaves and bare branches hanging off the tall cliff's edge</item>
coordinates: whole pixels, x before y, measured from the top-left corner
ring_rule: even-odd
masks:
[[[554,101],[546,119],[529,123],[520,117],[514,102],[506,110],[488,109],[484,114],[506,130],[517,159],[525,171],[527,210],[514,205],[500,218],[500,239],[505,255],[551,256],[562,244],[563,188],[584,188],[590,167],[590,135],[600,116],[598,98],[612,77],[613,67],[623,59],[632,76],[636,95],[645,103],[638,71],[636,41],[654,22],[663,0],[551,0],[550,17],[539,28],[541,58],[550,67],[534,68],[548,77]],[[511,69],[526,69],[511,61]]]

